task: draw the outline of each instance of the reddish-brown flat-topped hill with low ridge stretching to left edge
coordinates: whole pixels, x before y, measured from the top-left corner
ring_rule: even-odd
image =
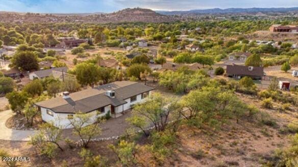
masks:
[[[151,9],[123,9],[113,13],[17,13],[0,12],[0,22],[78,22],[78,23],[119,23],[119,22],[172,22],[178,18],[156,13]]]

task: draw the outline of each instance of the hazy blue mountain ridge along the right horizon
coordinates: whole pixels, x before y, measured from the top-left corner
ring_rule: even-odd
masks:
[[[228,9],[195,9],[189,11],[156,11],[164,15],[187,15],[187,14],[217,14],[217,13],[258,13],[258,12],[298,12],[294,8],[228,8]]]

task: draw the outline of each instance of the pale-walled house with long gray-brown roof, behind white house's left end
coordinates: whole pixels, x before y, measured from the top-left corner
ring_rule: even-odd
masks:
[[[33,80],[34,78],[45,78],[45,77],[49,77],[49,76],[54,76],[54,73],[56,74],[56,72],[58,71],[59,73],[61,73],[61,75],[63,76],[64,74],[67,73],[68,68],[67,67],[59,67],[59,68],[51,68],[51,69],[47,69],[47,70],[39,70],[39,71],[34,71],[32,73],[29,74],[29,79]],[[60,78],[60,75],[59,77]]]

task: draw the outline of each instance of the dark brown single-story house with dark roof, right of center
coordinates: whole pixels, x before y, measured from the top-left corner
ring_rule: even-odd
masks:
[[[240,66],[240,65],[227,65],[227,76],[233,78],[242,78],[249,76],[252,79],[261,80],[264,76],[263,67]]]

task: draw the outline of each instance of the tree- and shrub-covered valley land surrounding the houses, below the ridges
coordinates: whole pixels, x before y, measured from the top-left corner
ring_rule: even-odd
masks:
[[[298,84],[291,75],[298,70],[297,38],[255,33],[268,31],[272,24],[297,25],[295,17],[160,23],[172,17],[138,8],[58,20],[53,15],[9,14],[27,20],[23,23],[1,17],[1,61],[24,76],[0,72],[0,95],[6,100],[1,101],[0,119],[11,114],[0,131],[36,133],[29,141],[13,141],[14,133],[0,140],[0,157],[32,158],[1,161],[0,166],[298,165]],[[86,22],[75,21],[82,18]],[[85,43],[60,48],[61,39]],[[197,50],[187,49],[189,45]],[[236,53],[249,56],[230,60]],[[101,65],[110,59],[116,67]],[[45,63],[51,67],[43,67]],[[228,77],[227,65],[233,63],[262,68],[266,75],[262,80]],[[172,70],[164,69],[166,64]],[[189,68],[193,64],[200,69]],[[59,67],[68,67],[62,77],[29,79],[31,72]],[[42,121],[34,105],[65,91],[121,80],[155,90],[118,118],[107,113],[84,126],[90,115],[78,110],[69,118],[73,128],[60,129]],[[282,80],[290,81],[288,90],[280,88]]]

